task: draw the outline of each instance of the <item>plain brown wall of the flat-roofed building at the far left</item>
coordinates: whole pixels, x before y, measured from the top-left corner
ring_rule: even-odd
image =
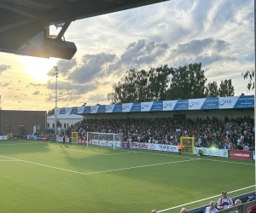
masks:
[[[46,111],[13,111],[0,110],[0,135],[20,135],[20,127],[25,127],[24,134],[32,133],[34,126],[38,126],[38,132],[45,132]]]

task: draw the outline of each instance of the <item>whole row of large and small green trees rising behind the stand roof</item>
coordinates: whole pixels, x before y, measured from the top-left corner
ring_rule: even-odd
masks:
[[[113,86],[113,92],[107,95],[111,103],[130,103],[143,101],[165,101],[177,99],[195,99],[234,96],[235,89],[231,79],[224,79],[218,87],[213,81],[207,83],[201,63],[178,68],[159,66],[146,70],[131,69],[119,83]]]

